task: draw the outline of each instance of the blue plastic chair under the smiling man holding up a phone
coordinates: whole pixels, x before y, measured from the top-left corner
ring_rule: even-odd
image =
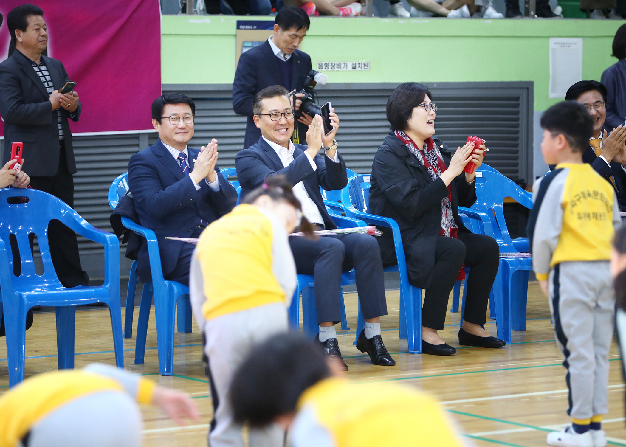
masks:
[[[349,217],[337,215],[328,209],[332,220],[339,228],[366,227],[366,223]],[[356,283],[354,269],[341,274],[341,287]],[[315,304],[315,282],[313,275],[297,275],[297,285],[289,306],[289,326],[295,331],[300,327],[300,294],[302,294],[302,329],[307,336],[314,337],[319,331],[317,324],[317,307]],[[349,331],[346,319],[346,306],[344,304],[344,292],[339,287],[339,306],[341,308],[341,329]]]

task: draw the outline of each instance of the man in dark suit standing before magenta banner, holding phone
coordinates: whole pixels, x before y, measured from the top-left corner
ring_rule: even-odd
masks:
[[[43,10],[32,4],[13,8],[7,25],[15,51],[0,64],[0,115],[4,119],[3,163],[11,157],[11,143],[24,143],[31,186],[74,205],[76,172],[68,118],[78,121],[78,93],[61,95],[69,80],[63,64],[42,53],[48,46]],[[42,237],[42,235],[39,235]],[[65,287],[88,285],[78,255],[76,234],[58,220],[48,227],[50,255]]]

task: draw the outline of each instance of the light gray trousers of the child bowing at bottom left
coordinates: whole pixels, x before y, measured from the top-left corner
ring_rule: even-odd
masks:
[[[73,399],[38,421],[28,447],[140,447],[141,413],[123,391]]]

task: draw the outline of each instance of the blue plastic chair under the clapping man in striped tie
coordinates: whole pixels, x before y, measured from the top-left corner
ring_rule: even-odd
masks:
[[[128,192],[128,172],[116,178],[109,188],[109,205],[115,208],[120,198]],[[148,334],[148,320],[152,295],[155,297],[156,344],[158,347],[158,369],[162,376],[171,376],[174,368],[174,315],[178,310],[178,332],[192,331],[192,308],[189,301],[189,287],[177,281],[163,278],[161,257],[155,232],[141,227],[128,217],[122,217],[121,223],[129,230],[144,237],[148,244],[152,282],[146,282],[141,292],[137,337],[135,340],[135,364],[143,364]],[[137,262],[134,261],[128,275],[126,291],[126,315],[124,337],[130,338],[133,331],[133,312],[135,310],[135,289],[137,285]]]

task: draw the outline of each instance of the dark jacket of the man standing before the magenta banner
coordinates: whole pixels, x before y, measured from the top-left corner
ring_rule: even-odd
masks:
[[[55,90],[68,81],[61,61],[41,56]],[[50,95],[31,66],[30,59],[18,50],[0,63],[0,115],[4,120],[3,164],[11,158],[11,143],[24,143],[26,171],[31,177],[52,177],[59,168],[59,128],[56,110],[52,110]],[[82,105],[71,114],[61,108],[65,153],[69,173],[76,173],[72,134],[68,118],[78,121]]]

